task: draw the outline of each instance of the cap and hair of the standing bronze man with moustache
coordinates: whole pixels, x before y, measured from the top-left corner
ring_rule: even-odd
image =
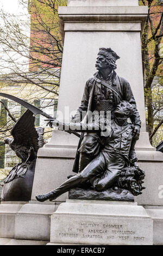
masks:
[[[117,68],[116,61],[120,57],[111,48],[99,48],[98,55],[103,55],[106,58],[108,64],[110,64],[113,69]]]

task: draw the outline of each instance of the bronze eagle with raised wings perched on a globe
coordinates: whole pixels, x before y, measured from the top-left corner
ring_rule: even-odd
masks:
[[[35,128],[35,116],[27,110],[11,129],[13,138],[6,138],[21,163],[14,166],[4,180],[2,201],[29,201],[36,164],[37,151],[45,145],[44,128]]]

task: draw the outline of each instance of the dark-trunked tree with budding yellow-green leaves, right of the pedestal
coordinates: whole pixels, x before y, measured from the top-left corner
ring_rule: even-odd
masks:
[[[142,64],[145,88],[145,104],[147,108],[147,129],[151,144],[159,144],[162,136],[156,136],[162,129],[163,100],[162,92],[162,50],[163,35],[163,3],[158,0],[141,0],[140,5],[148,6],[148,17],[142,34]]]

